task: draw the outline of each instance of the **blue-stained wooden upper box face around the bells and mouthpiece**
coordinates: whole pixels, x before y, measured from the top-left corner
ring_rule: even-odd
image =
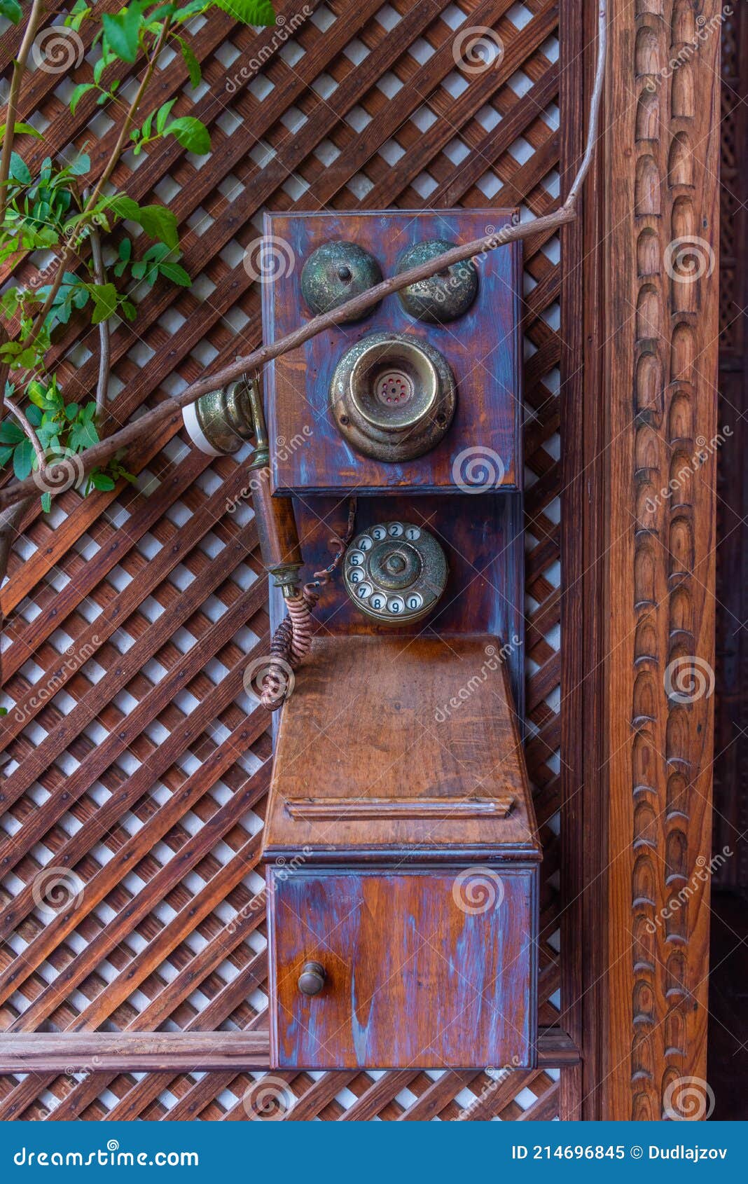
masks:
[[[278,258],[278,276],[263,287],[263,335],[275,341],[310,317],[301,294],[304,260],[322,243],[348,239],[395,274],[406,247],[424,239],[468,243],[511,220],[511,211],[387,211],[356,214],[266,214],[265,233]],[[488,484],[521,483],[522,354],[520,348],[521,244],[477,260],[478,295],[462,317],[425,324],[386,297],[355,324],[334,326],[266,367],[272,487],[276,493],[356,488],[360,494],[396,487],[452,491],[470,477],[477,458],[489,465]],[[431,452],[402,464],[362,457],[341,437],[329,412],[329,388],[341,355],[370,333],[398,332],[434,346],[457,380],[457,411]],[[457,477],[457,481],[456,481]]]

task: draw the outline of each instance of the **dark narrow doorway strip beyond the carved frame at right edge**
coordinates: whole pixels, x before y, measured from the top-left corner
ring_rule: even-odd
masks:
[[[748,1119],[748,12],[722,25],[714,877],[709,1085]],[[718,864],[718,866],[717,866]]]

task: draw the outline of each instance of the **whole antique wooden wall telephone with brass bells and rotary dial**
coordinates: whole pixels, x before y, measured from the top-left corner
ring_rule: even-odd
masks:
[[[299,265],[264,287],[265,341],[510,217],[269,215]],[[266,429],[257,388],[234,392],[288,668],[264,688],[285,700],[264,834],[277,1068],[535,1063],[520,251],[276,359]]]

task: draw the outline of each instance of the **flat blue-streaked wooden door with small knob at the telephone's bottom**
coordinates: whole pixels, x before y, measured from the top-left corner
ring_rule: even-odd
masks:
[[[534,1066],[536,897],[536,867],[270,871],[271,1066]]]

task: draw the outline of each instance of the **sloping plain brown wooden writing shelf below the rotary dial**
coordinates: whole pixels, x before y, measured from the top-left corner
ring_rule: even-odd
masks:
[[[537,862],[501,644],[315,638],[283,708],[265,860]]]

